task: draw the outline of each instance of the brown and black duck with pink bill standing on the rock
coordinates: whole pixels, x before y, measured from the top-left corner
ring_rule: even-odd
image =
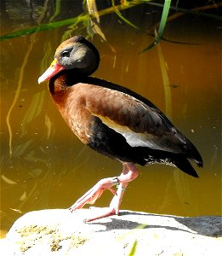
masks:
[[[177,166],[198,177],[189,160],[202,166],[195,146],[150,101],[117,84],[89,77],[100,55],[82,36],[70,38],[56,49],[54,61],[38,79],[49,79],[50,94],[67,125],[90,148],[122,162],[122,174],[106,177],[74,203],[75,211],[92,204],[105,189],[114,197],[86,221],[118,214],[128,183],[138,176],[136,164]],[[117,185],[117,190],[112,187]]]

